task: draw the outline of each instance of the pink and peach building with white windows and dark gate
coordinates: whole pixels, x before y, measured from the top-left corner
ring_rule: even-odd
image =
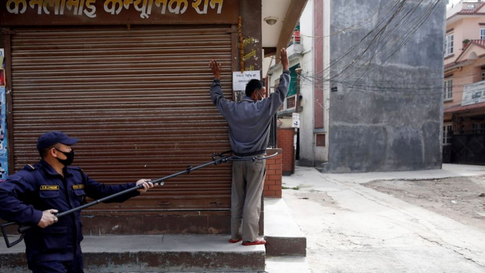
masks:
[[[485,164],[485,2],[447,11],[443,161]]]

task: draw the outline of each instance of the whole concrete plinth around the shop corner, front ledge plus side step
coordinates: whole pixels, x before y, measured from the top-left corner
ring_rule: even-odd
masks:
[[[264,211],[265,246],[231,244],[229,236],[221,235],[86,236],[81,243],[84,271],[306,273],[308,265],[302,256],[306,256],[307,239],[285,201],[266,198]],[[12,248],[0,243],[0,272],[28,272],[24,250],[23,242]]]

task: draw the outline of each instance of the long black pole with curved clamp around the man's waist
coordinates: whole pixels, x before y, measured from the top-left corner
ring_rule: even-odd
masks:
[[[183,171],[180,171],[178,173],[175,173],[175,174],[172,174],[172,175],[169,175],[169,176],[166,176],[166,177],[153,179],[150,182],[152,182],[153,184],[159,184],[160,186],[162,186],[164,184],[163,181],[165,181],[167,179],[170,179],[170,178],[173,178],[173,177],[178,177],[178,176],[184,175],[184,174],[190,175],[191,172],[196,171],[198,169],[202,169],[202,168],[210,166],[210,165],[219,165],[221,163],[227,163],[229,161],[253,161],[253,162],[255,162],[255,161],[265,160],[265,159],[275,157],[278,154],[278,153],[275,153],[275,154],[267,156],[267,157],[248,157],[248,158],[238,158],[238,157],[226,155],[226,154],[231,153],[231,152],[232,151],[226,151],[226,152],[223,152],[223,153],[220,153],[220,154],[214,153],[214,154],[212,154],[212,161],[203,163],[203,164],[195,166],[195,167],[188,166]],[[115,197],[118,197],[118,196],[121,196],[121,195],[124,195],[124,194],[127,194],[127,193],[131,193],[131,192],[134,192],[134,191],[139,190],[139,189],[143,189],[143,184],[137,185],[133,188],[126,189],[126,190],[121,191],[119,193],[114,193],[112,195],[109,195],[109,196],[106,196],[104,198],[95,200],[93,202],[90,202],[88,204],[82,205],[82,206],[74,208],[74,209],[69,209],[69,210],[66,210],[66,211],[63,211],[63,212],[55,213],[54,216],[56,216],[57,218],[60,218],[60,217],[63,217],[65,215],[80,211],[82,209],[89,208],[89,207],[97,205],[101,202],[108,201],[108,200],[113,199]],[[1,232],[3,234],[3,239],[5,239],[5,244],[7,245],[7,248],[10,248],[10,247],[18,244],[19,242],[21,242],[24,239],[25,232],[27,232],[28,230],[30,230],[34,227],[32,225],[19,226],[18,229],[17,229],[17,232],[20,234],[20,237],[16,241],[10,242],[8,240],[8,235],[7,235],[7,226],[10,226],[10,225],[17,225],[17,224],[15,222],[10,222],[10,223],[5,223],[3,225],[0,225]]]

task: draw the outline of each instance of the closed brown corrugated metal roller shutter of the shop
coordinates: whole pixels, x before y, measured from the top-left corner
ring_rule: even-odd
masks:
[[[17,28],[12,34],[15,170],[38,161],[37,137],[81,142],[74,165],[104,183],[183,170],[229,150],[212,104],[211,59],[231,98],[230,26]],[[168,180],[123,204],[93,210],[227,210],[231,164]]]

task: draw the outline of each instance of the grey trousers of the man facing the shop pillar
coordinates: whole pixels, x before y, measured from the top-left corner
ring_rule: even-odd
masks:
[[[255,241],[259,234],[259,214],[266,160],[232,163],[231,237]]]

